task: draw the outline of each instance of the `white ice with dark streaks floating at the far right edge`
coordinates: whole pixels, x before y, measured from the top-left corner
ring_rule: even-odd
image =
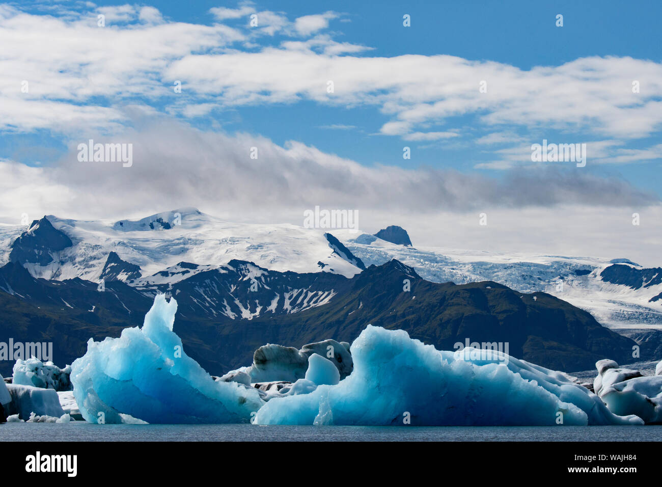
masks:
[[[593,382],[595,393],[615,414],[636,414],[645,423],[662,423],[662,362],[654,376],[643,376],[639,370],[618,368],[614,360],[596,364],[598,376]]]

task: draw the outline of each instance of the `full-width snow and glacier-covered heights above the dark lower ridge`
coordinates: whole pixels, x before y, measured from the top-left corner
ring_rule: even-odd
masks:
[[[406,235],[400,227],[389,228]],[[222,274],[231,260],[275,272],[322,271],[351,278],[366,266],[397,259],[432,282],[492,280],[520,292],[557,296],[608,327],[662,329],[660,268],[645,269],[622,258],[506,254],[409,243],[343,229],[230,223],[195,208],[134,221],[75,221],[50,215],[27,228],[1,225],[0,265],[13,260],[32,276],[50,280],[121,280],[151,294],[172,290],[194,274]],[[305,286],[299,289],[303,292]],[[328,296],[310,299],[304,301],[315,303]],[[245,303],[231,309],[233,302],[228,301],[228,315],[252,317],[258,312],[257,305],[250,311]],[[264,310],[270,304],[259,306]]]

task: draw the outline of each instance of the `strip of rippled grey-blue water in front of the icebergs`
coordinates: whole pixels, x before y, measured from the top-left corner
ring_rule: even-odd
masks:
[[[661,441],[660,426],[0,424],[0,441]]]

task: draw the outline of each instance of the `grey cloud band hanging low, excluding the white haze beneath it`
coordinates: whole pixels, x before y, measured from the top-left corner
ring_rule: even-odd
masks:
[[[140,107],[130,116],[132,125],[144,125]],[[132,167],[78,162],[76,146],[88,138],[132,143]],[[126,129],[115,136],[89,132],[81,139],[71,140],[71,150],[59,164],[44,168],[44,180],[66,186],[75,195],[61,208],[64,213],[103,213],[109,208],[128,213],[173,205],[204,205],[216,213],[242,214],[311,205],[435,213],[561,203],[641,206],[659,201],[624,180],[587,170],[541,166],[496,180],[453,170],[367,167],[301,142],[279,146],[261,136],[199,131],[164,117],[150,117],[139,131]],[[252,147],[258,148],[258,159],[250,158]],[[24,183],[30,186],[29,178]],[[42,197],[48,211],[51,195],[45,191]],[[0,197],[0,207],[16,204]]]

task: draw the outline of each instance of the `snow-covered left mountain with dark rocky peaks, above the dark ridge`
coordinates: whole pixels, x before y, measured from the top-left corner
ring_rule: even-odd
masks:
[[[138,221],[76,221],[48,215],[27,229],[0,230],[0,265],[15,260],[32,276],[55,280],[131,280],[138,272],[150,276],[178,262],[220,265],[232,259],[269,270],[323,270],[346,277],[360,272],[362,265],[332,246],[323,231],[290,224],[230,223],[195,208]],[[109,261],[111,252],[115,253]]]

